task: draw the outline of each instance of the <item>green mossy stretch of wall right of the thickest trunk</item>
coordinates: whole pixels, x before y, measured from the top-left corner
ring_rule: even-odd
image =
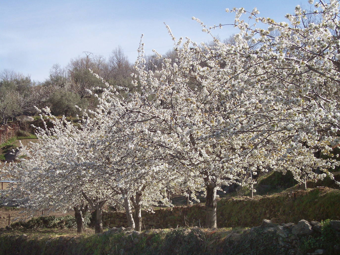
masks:
[[[340,190],[312,189],[296,198],[290,193],[251,198],[231,198],[217,203],[219,227],[257,226],[262,219],[281,222],[340,219]]]

